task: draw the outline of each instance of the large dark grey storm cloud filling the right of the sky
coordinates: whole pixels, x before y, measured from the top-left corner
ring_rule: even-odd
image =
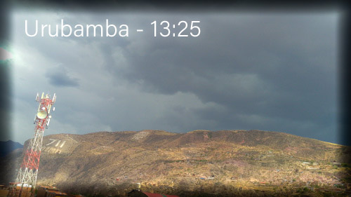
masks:
[[[224,106],[217,115],[215,109],[197,112],[199,118],[211,117],[217,128],[317,134],[336,121],[331,114],[336,111],[337,27],[330,18],[205,16],[199,38],[155,39],[143,55],[126,51],[130,64],[124,77],[142,81],[150,93],[194,93]],[[260,116],[272,124],[244,123],[227,114]]]

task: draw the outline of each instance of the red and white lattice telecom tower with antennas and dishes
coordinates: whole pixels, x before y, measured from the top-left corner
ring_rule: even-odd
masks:
[[[55,107],[51,109],[56,100],[55,94],[53,94],[52,100],[48,94],[44,95],[43,93],[41,97],[37,94],[36,100],[39,102],[39,108],[34,118],[34,137],[30,140],[27,150],[24,150],[25,156],[23,157],[22,165],[15,181],[17,186],[20,186],[20,190],[23,187],[31,187],[31,191],[35,189],[44,130],[48,128],[48,124],[50,123],[50,111],[55,111]]]

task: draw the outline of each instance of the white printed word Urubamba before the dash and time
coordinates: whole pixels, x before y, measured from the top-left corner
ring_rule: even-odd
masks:
[[[84,37],[84,36],[96,36],[97,32],[100,32],[100,36],[105,36],[107,37],[114,37],[117,36],[117,34],[121,37],[128,36],[128,25],[119,25],[119,29],[117,29],[116,25],[109,24],[109,20],[106,19],[106,25],[86,25],[85,27],[83,25],[74,25],[72,27],[71,25],[64,24],[63,19],[61,19],[61,24],[60,28],[59,25],[55,25],[55,27],[52,27],[51,25],[48,24],[42,24],[41,27],[38,25],[38,20],[35,20],[35,31],[28,31],[28,22],[25,20],[25,34],[29,37],[34,37],[34,36],[42,36],[48,35],[51,37],[68,37],[68,36],[76,36],[76,37]],[[39,32],[39,29],[41,30],[41,34]],[[100,31],[99,31],[100,30]]]

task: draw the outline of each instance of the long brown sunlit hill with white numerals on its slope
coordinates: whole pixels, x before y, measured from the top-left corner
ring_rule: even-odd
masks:
[[[75,193],[119,194],[136,183],[147,191],[178,194],[218,193],[229,186],[252,189],[263,183],[268,189],[335,186],[349,179],[349,153],[350,147],[262,130],[48,135],[37,184]],[[21,161],[18,152],[6,156],[0,162],[6,180],[0,182],[15,179]]]

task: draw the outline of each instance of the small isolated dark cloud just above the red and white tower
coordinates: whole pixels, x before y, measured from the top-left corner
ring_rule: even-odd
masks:
[[[75,79],[69,76],[64,67],[60,67],[59,69],[55,69],[55,70],[51,70],[50,72],[47,72],[46,78],[48,79],[48,83],[50,83],[53,86],[61,86],[61,87],[79,86],[78,79]]]

